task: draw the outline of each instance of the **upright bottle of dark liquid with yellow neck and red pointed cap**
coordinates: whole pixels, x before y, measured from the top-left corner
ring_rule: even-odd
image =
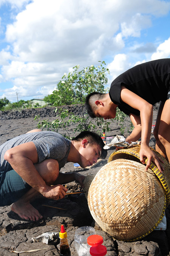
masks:
[[[59,237],[60,237],[60,256],[71,256],[70,247],[67,239],[67,232],[65,231],[63,225],[61,225]]]

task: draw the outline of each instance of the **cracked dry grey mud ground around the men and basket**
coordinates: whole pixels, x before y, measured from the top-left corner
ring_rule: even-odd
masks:
[[[38,110],[37,110],[38,112]],[[13,113],[15,115],[15,113]],[[53,121],[55,116],[42,116],[41,119],[48,119]],[[154,110],[153,124],[156,119],[156,110]],[[130,119],[125,121],[125,126],[128,126]],[[5,116],[0,115],[0,144],[5,141],[35,129],[37,122],[34,117],[18,119],[6,119]],[[72,126],[69,127],[70,132],[73,132]],[[101,129],[101,127],[99,128]],[[107,136],[115,136],[120,134],[119,125],[117,123],[111,124],[111,131]],[[62,133],[62,130],[60,130]],[[73,134],[74,136],[74,134]],[[127,136],[125,130],[125,137]],[[150,146],[155,147],[155,139],[151,135]],[[106,160],[103,160],[94,168],[91,169],[75,169],[73,163],[67,163],[62,169],[62,172],[79,172],[87,176],[88,174],[96,174],[100,168],[107,163],[110,154],[114,151],[112,147],[108,150]],[[70,192],[79,191],[80,187],[77,183],[71,182],[66,184]],[[53,209],[44,207],[42,204],[61,207],[66,210]],[[75,229],[78,226],[93,225],[96,229],[96,234],[100,234],[104,238],[104,245],[107,246],[108,255],[169,255],[170,245],[170,207],[166,209],[167,217],[167,230],[166,231],[153,231],[148,236],[144,237],[141,241],[136,242],[122,242],[113,240],[106,232],[100,230],[100,227],[94,223],[88,209],[87,199],[84,194],[66,196],[59,201],[52,201],[49,199],[41,199],[34,201],[33,205],[43,215],[41,221],[25,221],[21,220],[14,212],[11,211],[11,206],[0,207],[0,256],[19,255],[28,256],[29,253],[11,253],[15,251],[28,251],[39,248],[46,248],[41,251],[34,252],[30,255],[37,256],[52,256],[59,255],[59,240],[48,245],[43,243],[32,243],[31,238],[39,236],[44,232],[59,232],[60,225],[63,224],[68,233],[68,240],[71,248],[71,255],[77,255],[74,246]]]

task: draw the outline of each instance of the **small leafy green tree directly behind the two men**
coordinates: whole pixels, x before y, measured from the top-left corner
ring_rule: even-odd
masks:
[[[97,67],[91,65],[90,67],[83,68],[81,71],[79,71],[79,65],[75,66],[73,72],[70,72],[68,75],[65,74],[62,77],[62,80],[57,84],[57,90],[53,91],[53,94],[56,96],[56,100],[53,104],[54,106],[60,106],[62,104],[80,104],[80,115],[68,113],[61,108],[59,115],[57,116],[58,118],[55,121],[39,121],[39,128],[42,127],[55,131],[58,131],[60,128],[66,130],[71,123],[76,123],[77,126],[74,129],[74,132],[96,130],[97,126],[102,126],[103,132],[105,132],[105,130],[110,130],[109,122],[104,121],[103,118],[96,118],[95,121],[93,121],[84,109],[85,97],[87,94],[92,93],[93,91],[98,91],[100,93],[105,92],[104,86],[107,84],[106,72],[109,73],[109,70],[104,67],[104,61],[99,61],[99,63],[100,64]],[[36,116],[35,119],[39,119],[39,116]],[[67,134],[67,137],[69,136],[70,135]]]

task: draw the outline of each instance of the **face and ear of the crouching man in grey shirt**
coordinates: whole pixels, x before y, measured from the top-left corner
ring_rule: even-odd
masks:
[[[98,144],[90,145],[89,142],[82,141],[82,148],[80,153],[80,163],[82,168],[93,165],[100,158],[101,147]]]

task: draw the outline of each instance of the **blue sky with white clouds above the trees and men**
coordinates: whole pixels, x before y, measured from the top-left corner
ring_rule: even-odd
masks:
[[[0,98],[53,92],[75,65],[105,61],[108,86],[150,60],[170,58],[170,0],[0,0]]]

